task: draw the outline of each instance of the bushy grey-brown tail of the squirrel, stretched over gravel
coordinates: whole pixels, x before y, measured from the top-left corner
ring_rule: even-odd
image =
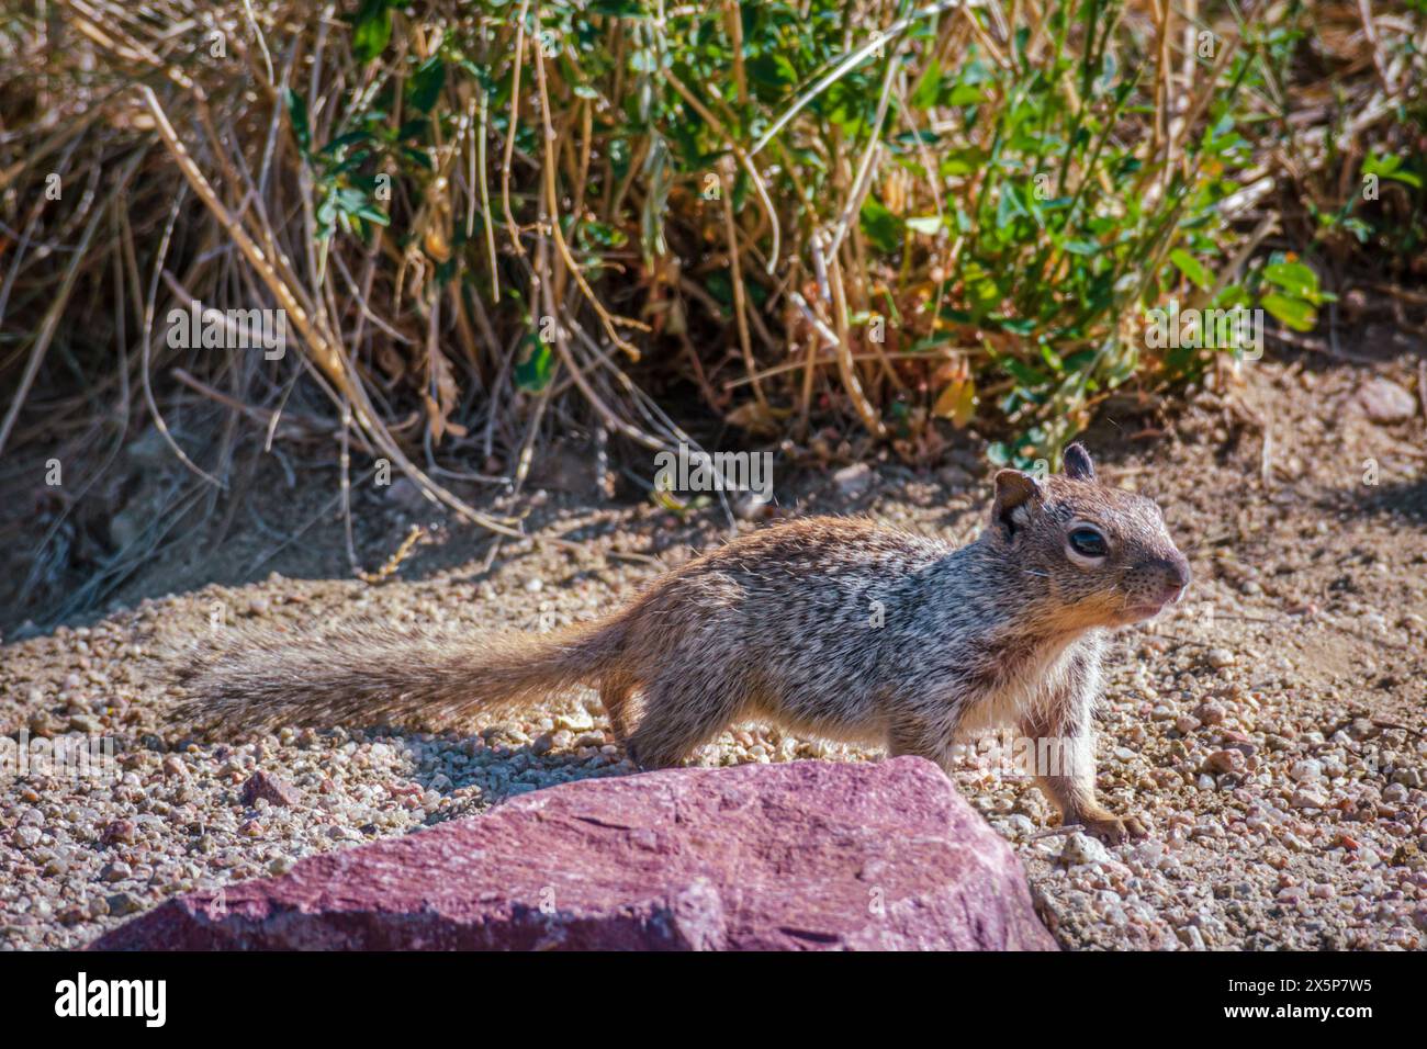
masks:
[[[411,725],[440,729],[581,682],[618,658],[619,621],[552,634],[341,627],[294,639],[245,631],[180,671],[176,719],[207,728]]]

